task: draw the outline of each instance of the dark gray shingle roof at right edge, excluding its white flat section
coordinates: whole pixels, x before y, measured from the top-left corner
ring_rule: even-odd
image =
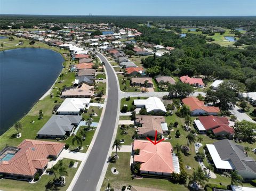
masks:
[[[242,145],[237,145],[228,139],[223,139],[213,144],[221,159],[230,160],[236,170],[249,170],[256,173],[256,162],[252,157],[246,156]]]

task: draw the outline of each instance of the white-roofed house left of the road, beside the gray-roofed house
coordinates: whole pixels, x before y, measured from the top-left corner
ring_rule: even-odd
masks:
[[[57,113],[60,115],[78,115],[90,103],[91,98],[66,98]]]

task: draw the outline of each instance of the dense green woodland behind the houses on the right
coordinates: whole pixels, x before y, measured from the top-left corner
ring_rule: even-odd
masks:
[[[141,31],[145,34],[137,39],[154,42],[154,38],[159,38],[158,41],[163,45],[175,47],[170,54],[162,57],[150,56],[142,59],[149,76],[204,75],[206,79],[238,80],[246,85],[248,91],[256,90],[255,44],[238,49],[206,43],[203,35],[187,34],[186,38],[177,38],[172,32],[159,29],[142,28]]]

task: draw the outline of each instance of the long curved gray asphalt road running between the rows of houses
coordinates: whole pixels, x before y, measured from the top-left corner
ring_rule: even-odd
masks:
[[[106,162],[111,140],[113,137],[117,109],[118,109],[118,84],[115,73],[108,64],[104,56],[98,54],[101,61],[105,62],[106,72],[108,74],[108,99],[105,114],[101,123],[95,143],[88,156],[83,170],[73,188],[75,191],[94,191],[96,190],[103,166]]]

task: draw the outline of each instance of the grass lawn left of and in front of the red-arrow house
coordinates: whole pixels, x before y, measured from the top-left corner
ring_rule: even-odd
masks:
[[[114,154],[114,153],[113,153]],[[105,179],[103,181],[101,190],[105,190],[108,182],[115,190],[121,190],[122,186],[135,185],[141,187],[150,187],[165,190],[188,190],[183,185],[172,184],[168,180],[164,179],[153,179],[153,178],[143,178],[143,179],[132,179],[130,170],[130,155],[131,153],[118,153],[119,159],[116,163],[109,163],[106,172]],[[115,167],[118,171],[118,175],[113,175],[111,168]]]

